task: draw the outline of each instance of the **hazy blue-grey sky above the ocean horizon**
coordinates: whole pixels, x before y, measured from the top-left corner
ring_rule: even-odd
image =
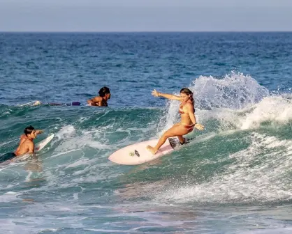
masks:
[[[0,0],[0,31],[292,31],[292,0]]]

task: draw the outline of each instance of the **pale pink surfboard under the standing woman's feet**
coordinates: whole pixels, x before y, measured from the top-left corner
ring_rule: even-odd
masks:
[[[187,142],[189,141],[189,139],[186,140]],[[145,162],[150,162],[154,159],[162,157],[163,155],[167,155],[181,146],[180,141],[177,138],[168,138],[166,143],[159,148],[159,151],[155,155],[152,155],[146,147],[148,145],[155,146],[158,141],[159,139],[154,139],[136,143],[131,146],[126,146],[115,151],[115,153],[112,153],[108,159],[116,164],[138,165]]]

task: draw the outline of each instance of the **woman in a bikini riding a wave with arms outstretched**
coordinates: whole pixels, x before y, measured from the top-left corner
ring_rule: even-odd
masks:
[[[167,130],[161,139],[159,139],[156,146],[147,146],[147,150],[149,150],[153,155],[156,154],[159,148],[169,137],[177,137],[180,140],[180,143],[183,144],[185,139],[182,136],[193,131],[194,127],[198,130],[204,129],[203,125],[196,122],[193,93],[189,90],[189,88],[182,88],[180,91],[180,96],[159,93],[155,89],[152,91],[152,95],[154,95],[154,97],[163,97],[169,100],[177,100],[181,102],[179,109],[181,115],[180,123],[176,123],[173,127]]]

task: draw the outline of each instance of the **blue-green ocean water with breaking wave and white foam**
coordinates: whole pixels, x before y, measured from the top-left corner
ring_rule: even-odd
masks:
[[[292,33],[0,33],[0,233],[292,233]],[[102,86],[109,107],[86,107]],[[108,161],[180,118],[156,88],[194,91],[205,125],[138,166]],[[81,107],[41,102],[82,102]]]

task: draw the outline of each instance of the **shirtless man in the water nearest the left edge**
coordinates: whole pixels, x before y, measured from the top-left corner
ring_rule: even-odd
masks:
[[[15,150],[15,153],[6,153],[0,156],[0,162],[4,162],[13,157],[19,157],[26,153],[34,154],[34,139],[37,134],[41,134],[43,130],[35,130],[31,125],[24,129],[24,134],[20,137],[20,145]]]

